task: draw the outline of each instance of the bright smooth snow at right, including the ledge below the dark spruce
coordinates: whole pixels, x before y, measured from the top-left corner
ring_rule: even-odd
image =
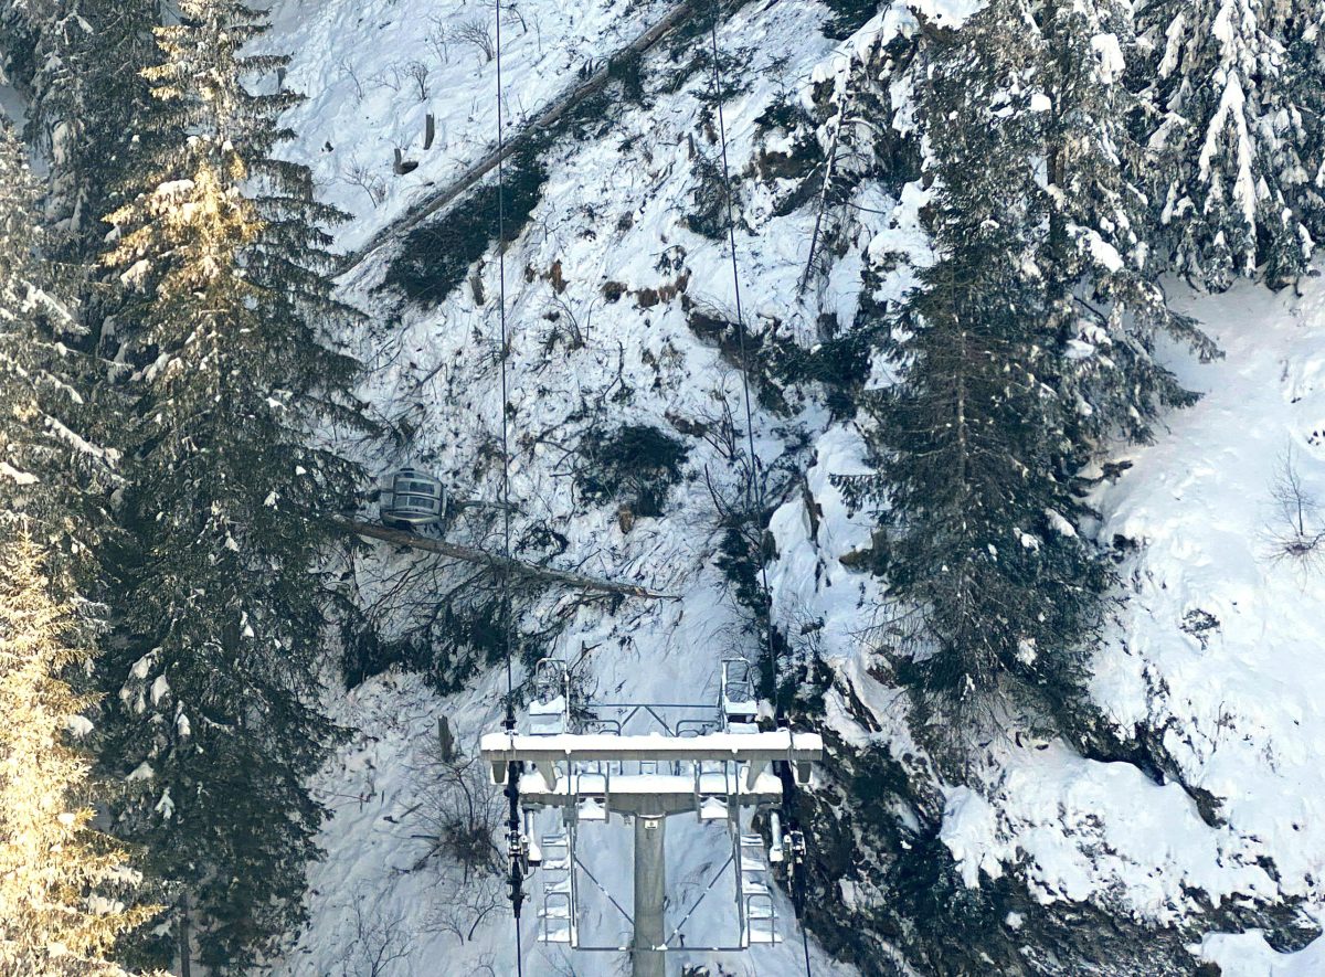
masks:
[[[1044,902],[1094,899],[1177,923],[1212,904],[1325,900],[1325,589],[1320,568],[1280,559],[1276,483],[1285,459],[1325,499],[1325,289],[1240,285],[1187,297],[1226,359],[1169,360],[1204,396],[1166,418],[1154,445],[1096,492],[1101,539],[1126,602],[1094,658],[1090,691],[1124,736],[1157,731],[1183,781],[1060,744],[1006,749],[990,801],[951,793],[945,841],[969,879],[1023,863]],[[1306,526],[1320,531],[1320,512]],[[1133,549],[1134,547],[1134,549]],[[1204,802],[1204,796],[1200,794]],[[1318,948],[1273,962],[1259,937],[1211,936],[1230,973],[1318,973]],[[1289,958],[1291,960],[1291,958]],[[1283,968],[1283,969],[1275,969]]]

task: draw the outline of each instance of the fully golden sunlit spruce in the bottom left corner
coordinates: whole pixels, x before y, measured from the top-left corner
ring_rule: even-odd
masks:
[[[93,702],[61,679],[91,651],[74,608],[56,600],[42,551],[5,520],[0,543],[0,973],[125,974],[111,957],[151,919],[132,906],[139,874],[91,827],[90,763],[66,743]],[[126,904],[127,900],[127,904]]]

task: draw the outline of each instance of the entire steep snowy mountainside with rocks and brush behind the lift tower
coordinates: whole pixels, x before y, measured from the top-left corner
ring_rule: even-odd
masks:
[[[994,737],[958,785],[917,743],[877,654],[884,584],[860,559],[872,519],[839,482],[864,470],[867,450],[841,388],[848,376],[885,385],[893,365],[857,351],[824,377],[798,372],[796,353],[843,336],[863,306],[900,298],[930,262],[906,53],[978,7],[933,0],[869,16],[749,3],[723,11],[717,32],[780,678],[795,679],[798,711],[829,743],[803,812],[814,972],[1309,973],[1314,947],[1277,952],[1313,936],[1325,859],[1313,763],[1325,745],[1321,586],[1310,560],[1283,552],[1297,502],[1316,519],[1325,486],[1314,279],[1301,295],[1246,285],[1186,298],[1170,285],[1226,357],[1163,351],[1202,401],[1166,416],[1153,445],[1120,447],[1086,473],[1098,512],[1086,528],[1121,582],[1090,665],[1094,712],[1073,743]],[[497,498],[505,290],[515,549],[680,596],[521,593],[522,670],[558,657],[583,662],[600,696],[710,700],[723,657],[763,658],[754,568],[731,520],[749,459],[712,11],[612,61],[670,7],[502,9],[511,131],[604,62],[610,81],[509,163],[505,283],[481,185],[346,274],[343,297],[372,318],[346,336],[367,364],[360,393],[398,433],[387,449],[358,450],[378,470],[421,463],[461,499]],[[298,134],[288,152],[355,214],[342,248],[401,221],[492,148],[488,7],[289,0],[273,20],[264,44],[294,53],[282,83],[310,95],[288,118]],[[839,155],[835,93],[860,71],[881,79],[868,105],[877,138]],[[408,172],[394,172],[398,150]],[[818,220],[828,158],[847,176]],[[500,523],[469,507],[449,534],[493,545]],[[376,631],[371,646],[343,649],[363,680],[329,706],[355,733],[318,780],[335,815],[327,858],[310,868],[313,925],[274,969],[514,973],[500,880],[436,841],[437,806],[452,802],[436,785],[456,776],[439,773],[439,720],[472,756],[501,718],[493,594],[461,565],[390,547],[344,572]],[[486,788],[460,782],[484,808]],[[629,833],[598,834],[599,880],[628,894]],[[700,898],[722,849],[716,834],[678,833],[674,907]],[[731,915],[725,898],[710,900],[713,920]],[[782,947],[690,962],[803,973],[790,903],[779,911]],[[619,924],[606,904],[598,921]],[[523,940],[534,973],[621,966],[539,948],[530,925]],[[374,958],[390,962],[372,970]]]

